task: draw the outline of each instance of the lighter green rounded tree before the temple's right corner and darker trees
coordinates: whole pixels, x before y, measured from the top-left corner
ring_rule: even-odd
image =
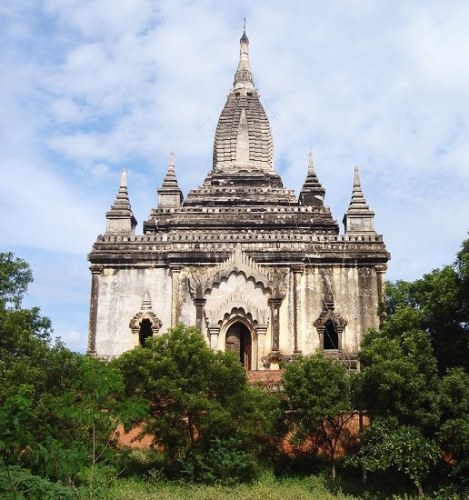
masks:
[[[359,404],[374,418],[432,432],[439,421],[438,376],[429,335],[417,329],[414,310],[400,306],[380,330],[364,335],[359,360]]]

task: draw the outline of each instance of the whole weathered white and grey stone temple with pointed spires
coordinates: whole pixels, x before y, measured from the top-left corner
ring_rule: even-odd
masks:
[[[88,255],[88,354],[120,355],[182,322],[212,348],[235,351],[247,370],[316,350],[354,365],[362,335],[378,324],[390,255],[358,169],[340,234],[313,155],[304,160],[296,196],[274,170],[244,30],[204,184],[184,197],[171,154],[157,206],[136,235],[123,172],[105,235]]]

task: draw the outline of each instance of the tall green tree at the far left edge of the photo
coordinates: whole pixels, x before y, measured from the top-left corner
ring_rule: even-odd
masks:
[[[21,307],[31,281],[25,261],[0,254],[0,455],[7,475],[12,465],[41,468],[45,443],[69,427],[56,404],[76,374],[75,355],[52,343],[50,321]]]

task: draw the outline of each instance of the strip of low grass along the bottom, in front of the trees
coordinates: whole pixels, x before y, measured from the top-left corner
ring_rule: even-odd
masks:
[[[397,472],[369,474],[368,484],[361,484],[359,469],[341,469],[333,481],[329,467],[301,460],[279,462],[264,468],[252,483],[238,485],[202,485],[170,481],[163,472],[161,456],[133,450],[117,468],[125,475],[115,475],[115,468],[102,469],[99,498],[109,500],[459,500],[467,496],[440,484],[438,478],[424,485],[427,495],[419,496],[414,485]],[[306,467],[305,465],[309,465]],[[309,468],[309,471],[308,471]],[[281,476],[280,476],[281,475]],[[228,483],[229,484],[229,483]],[[437,492],[435,492],[437,490]],[[438,491],[439,490],[439,491]],[[97,495],[96,495],[97,498]]]

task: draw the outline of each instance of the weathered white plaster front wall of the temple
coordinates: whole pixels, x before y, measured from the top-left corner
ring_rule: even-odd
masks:
[[[173,307],[177,309],[175,317],[178,321],[185,325],[195,325],[196,308],[189,288],[187,269],[182,269],[178,279],[180,281],[176,286],[177,297],[174,299],[174,285],[168,268],[105,268],[98,277],[96,354],[120,355],[137,345],[138,339],[132,333],[129,323],[141,309],[145,290],[149,292],[153,313],[162,322],[161,333],[165,333],[172,326]],[[286,295],[279,308],[279,347],[282,355],[292,355],[294,273],[289,273],[286,279]],[[324,311],[324,296],[329,290],[334,295],[334,313],[343,316],[347,321],[342,336],[345,354],[356,354],[364,332],[369,327],[378,325],[376,311],[379,286],[373,267],[306,266],[299,277],[296,304],[297,345],[303,355],[314,354],[320,348],[320,336],[314,321]],[[211,294],[206,295],[205,316],[209,321],[223,320],[225,312],[231,312],[232,305],[236,305],[235,301],[238,300],[240,303],[245,302],[244,309],[256,317],[259,324],[268,325],[262,341],[257,344],[259,366],[262,365],[261,359],[272,350],[273,329],[268,298],[269,295],[259,285],[254,285],[252,280],[246,280],[244,275],[231,275],[226,282],[215,286]],[[205,321],[203,335],[208,344]],[[225,348],[223,335],[219,337],[218,348]]]

